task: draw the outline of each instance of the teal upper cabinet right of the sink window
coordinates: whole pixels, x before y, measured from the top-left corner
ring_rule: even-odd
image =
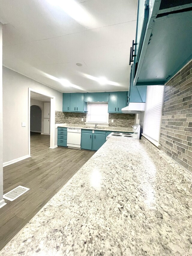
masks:
[[[127,92],[110,92],[108,112],[122,113],[122,108],[127,106]]]

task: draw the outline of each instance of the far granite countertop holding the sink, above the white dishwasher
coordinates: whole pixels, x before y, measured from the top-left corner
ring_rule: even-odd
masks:
[[[67,128],[81,128],[88,130],[100,130],[100,131],[122,131],[122,132],[132,132],[132,127],[113,127],[113,126],[104,126],[98,125],[98,128],[95,128],[95,125],[79,125],[79,124],[63,124],[58,125],[58,127],[67,127]]]

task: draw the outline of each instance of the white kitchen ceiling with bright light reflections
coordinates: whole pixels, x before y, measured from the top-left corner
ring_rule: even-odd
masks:
[[[0,0],[0,6],[4,66],[60,92],[128,89],[137,1]]]

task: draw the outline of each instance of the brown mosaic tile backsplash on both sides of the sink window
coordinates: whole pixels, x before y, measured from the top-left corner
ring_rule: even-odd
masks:
[[[81,119],[83,118],[83,122]],[[113,123],[111,120],[113,119]],[[85,124],[86,113],[60,112],[55,111],[55,124]],[[109,113],[109,126],[131,127],[135,123],[135,114]]]

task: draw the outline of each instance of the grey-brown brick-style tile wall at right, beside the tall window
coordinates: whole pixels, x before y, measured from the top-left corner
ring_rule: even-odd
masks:
[[[192,172],[192,61],[165,85],[160,144]]]

